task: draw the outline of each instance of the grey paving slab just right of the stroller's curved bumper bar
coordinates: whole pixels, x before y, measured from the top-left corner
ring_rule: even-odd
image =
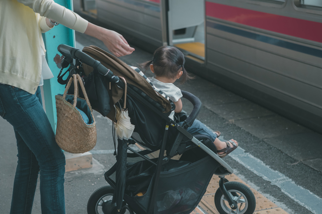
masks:
[[[211,109],[211,111],[215,112],[228,121],[275,115],[275,113],[264,109],[262,106],[248,100],[213,106],[205,104],[205,106],[206,108]]]

